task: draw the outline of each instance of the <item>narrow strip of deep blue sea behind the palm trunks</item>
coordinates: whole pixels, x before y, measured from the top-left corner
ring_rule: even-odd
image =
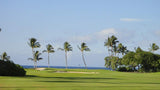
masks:
[[[23,68],[34,68],[34,66],[31,65],[22,65]],[[48,66],[37,66],[38,68],[47,68]],[[61,68],[64,69],[66,68],[65,66],[50,66],[50,68]],[[69,66],[68,69],[85,69],[85,67],[73,67]],[[103,69],[103,70],[111,70],[109,68],[105,67],[87,67],[87,69]]]

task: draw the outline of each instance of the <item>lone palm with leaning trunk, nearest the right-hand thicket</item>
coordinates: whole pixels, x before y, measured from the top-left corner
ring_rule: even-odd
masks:
[[[81,47],[78,46],[78,48],[79,48],[79,50],[81,50],[82,59],[83,59],[85,68],[87,69],[87,64],[86,64],[85,59],[84,59],[84,51],[90,51],[90,49],[88,48],[88,46],[84,42],[81,44]]]

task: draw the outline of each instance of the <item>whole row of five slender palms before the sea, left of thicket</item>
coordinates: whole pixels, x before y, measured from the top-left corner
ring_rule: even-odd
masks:
[[[28,58],[28,59],[32,60],[34,62],[34,68],[37,68],[37,61],[42,60],[42,58],[40,57],[40,55],[42,53],[40,53],[39,51],[35,51],[34,49],[35,48],[40,48],[41,45],[40,45],[39,42],[37,42],[36,38],[30,38],[29,42],[28,42],[28,45],[32,48],[32,54],[33,54],[33,58]],[[53,46],[51,44],[46,45],[46,48],[47,49],[43,50],[43,52],[48,53],[48,68],[49,68],[50,67],[50,58],[49,58],[49,56],[50,56],[50,53],[54,53],[55,50],[54,50],[54,48],[53,48]],[[84,59],[84,51],[90,51],[90,49],[88,48],[88,46],[84,42],[81,44],[81,47],[78,46],[78,48],[82,53],[82,59],[83,59],[85,67],[87,68],[87,64],[86,64],[85,59]],[[61,51],[65,52],[65,61],[66,61],[66,69],[67,69],[67,67],[68,67],[68,64],[67,64],[67,53],[69,51],[72,51],[73,48],[68,42],[65,42],[64,45],[63,45],[63,48],[58,48],[58,50],[61,50]]]

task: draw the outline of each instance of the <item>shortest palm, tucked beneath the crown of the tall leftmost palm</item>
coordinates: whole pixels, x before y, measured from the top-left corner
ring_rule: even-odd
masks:
[[[41,53],[39,51],[34,52],[33,58],[28,58],[28,60],[32,60],[35,64],[34,68],[37,68],[37,61],[42,60],[43,58],[40,58]]]

